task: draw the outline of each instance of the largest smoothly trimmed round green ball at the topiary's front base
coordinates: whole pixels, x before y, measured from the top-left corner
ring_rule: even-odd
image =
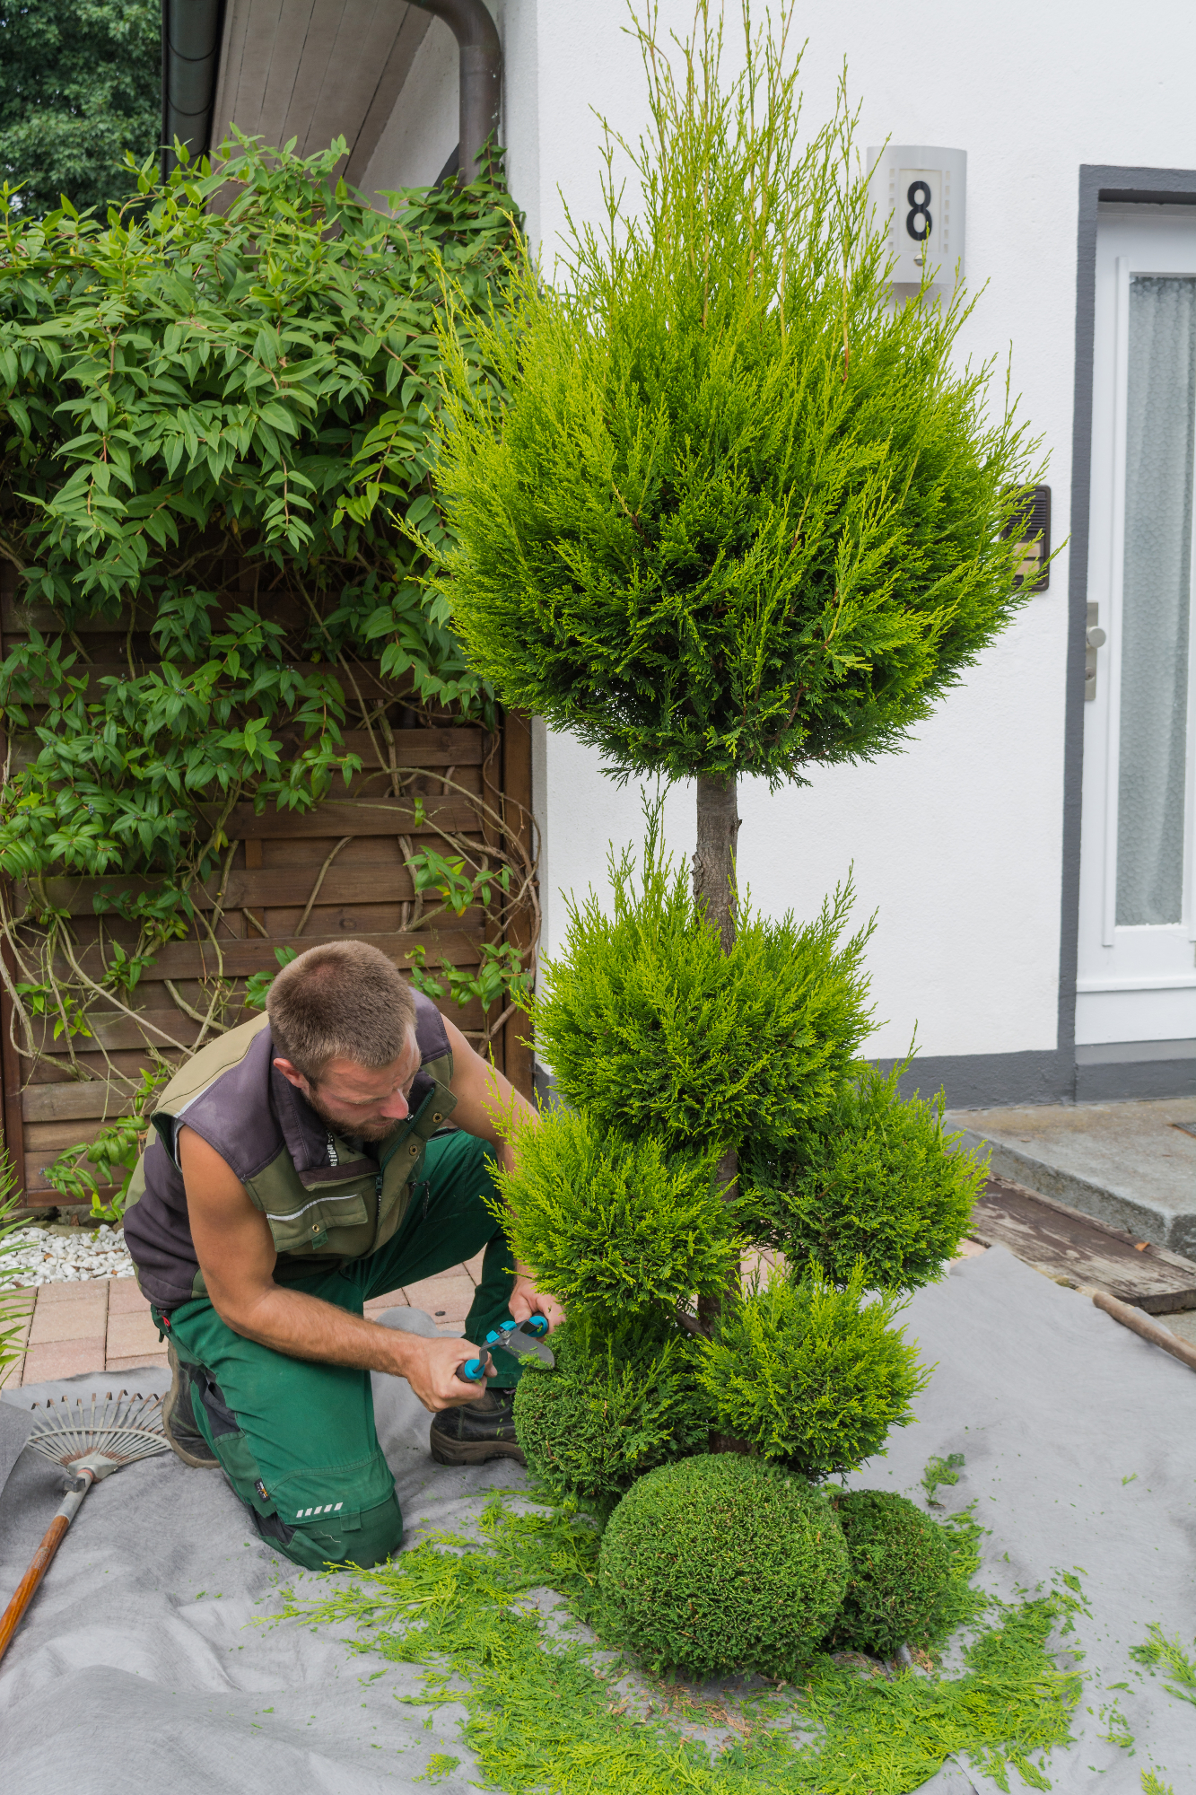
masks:
[[[848,1549],[801,1477],[706,1452],[632,1484],[602,1537],[598,1581],[657,1671],[792,1677],[839,1612]]]

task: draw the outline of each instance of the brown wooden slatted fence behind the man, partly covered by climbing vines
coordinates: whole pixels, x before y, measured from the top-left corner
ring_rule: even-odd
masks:
[[[47,625],[56,626],[52,617],[18,605],[11,576],[0,580],[5,653],[29,628]],[[113,653],[120,646],[115,632],[124,628],[95,623],[79,632],[97,691],[104,675],[128,671]],[[223,898],[219,878],[208,880],[203,892],[192,892],[208,917],[217,910],[215,941],[198,932],[196,939],[165,946],[124,1009],[97,1003],[88,1016],[90,1038],[54,1039],[52,1025],[40,1023],[32,1059],[23,1052],[29,1043],[13,1027],[13,1002],[5,991],[0,1002],[4,1127],[27,1204],[61,1204],[47,1179],[47,1165],[63,1149],[90,1143],[106,1122],[129,1113],[128,1086],[113,1082],[111,1073],[135,1081],[147,1064],[147,1043],[167,1059],[183,1057],[180,1050],[201,1034],[214,980],[223,982],[223,991],[232,989],[223,1009],[224,1025],[255,1014],[241,1009],[244,982],[253,973],[277,971],[277,948],[302,950],[352,933],[379,946],[400,968],[422,948],[429,971],[442,959],[460,968],[478,966],[485,941],[506,939],[521,950],[533,948],[539,906],[526,718],[508,714],[494,734],[462,727],[451,716],[427,723],[404,705],[399,686],[379,679],[377,664],[354,662],[352,675],[361,696],[356,720],[370,711],[377,714],[384,704],[391,720],[390,743],[377,729],[347,729],[345,747],[361,756],[363,772],[345,797],[325,801],[309,813],[268,808],[257,817],[250,804],[233,810],[226,835],[235,849]],[[22,745],[13,747],[20,754]],[[424,845],[442,853],[465,849],[474,858],[503,849],[526,871],[521,896],[497,919],[494,910],[467,910],[460,919],[449,915],[451,926],[440,917],[440,926],[420,928],[433,903],[417,894],[406,862]],[[72,951],[84,975],[95,976],[101,964],[101,919],[92,899],[101,885],[113,883],[129,889],[136,881],[110,874],[106,880],[59,878],[47,885],[54,908],[70,912]],[[14,896],[20,901],[20,892]],[[108,941],[136,939],[133,923],[111,915],[102,919],[102,928]],[[499,1000],[483,1014],[476,998],[465,1007],[442,1002],[444,1012],[483,1043],[499,1070],[530,1095],[532,1054],[524,1045],[530,1025],[523,1011],[503,1014],[503,1007]]]

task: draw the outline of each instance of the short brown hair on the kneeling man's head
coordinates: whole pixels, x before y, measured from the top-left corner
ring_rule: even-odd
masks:
[[[282,968],[266,998],[275,1052],[318,1084],[330,1059],[391,1066],[415,1034],[399,968],[365,941],[327,941]]]

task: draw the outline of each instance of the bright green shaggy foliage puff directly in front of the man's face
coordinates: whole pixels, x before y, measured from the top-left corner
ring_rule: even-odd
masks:
[[[726,1283],[738,1242],[713,1170],[711,1154],[666,1158],[650,1136],[555,1109],[521,1129],[519,1167],[499,1172],[492,1206],[541,1287],[609,1334]]]

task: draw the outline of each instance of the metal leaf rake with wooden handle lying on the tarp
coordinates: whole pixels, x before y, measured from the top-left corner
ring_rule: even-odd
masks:
[[[128,1389],[122,1389],[115,1400],[108,1391],[104,1402],[99,1407],[97,1404],[99,1397],[92,1397],[90,1409],[84,1409],[81,1397],[74,1407],[66,1397],[57,1404],[50,1397],[45,1416],[25,1441],[34,1452],[68,1470],[75,1484],[63,1497],[63,1506],[47,1528],[29,1571],[16,1585],[13,1601],[0,1616],[0,1659],[92,1484],[120,1470],[122,1465],[131,1465],[133,1459],[171,1450],[171,1441],[162,1432],[162,1397],[140,1393],[129,1397]]]

